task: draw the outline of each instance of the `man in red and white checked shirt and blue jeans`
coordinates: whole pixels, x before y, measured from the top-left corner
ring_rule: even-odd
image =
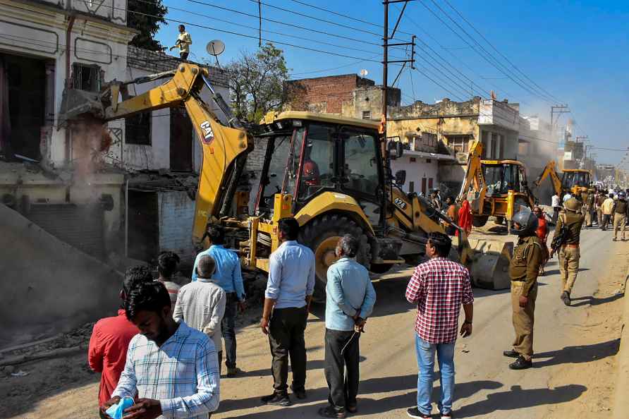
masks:
[[[417,304],[415,350],[417,351],[417,407],[409,408],[411,418],[431,418],[434,355],[439,361],[441,399],[437,406],[441,419],[452,418],[454,397],[454,343],[458,332],[460,307],[465,322],[463,337],[472,334],[474,296],[470,272],[463,265],[448,260],[451,239],[444,233],[429,233],[426,254],[430,257],[415,268],[406,288],[406,299]]]

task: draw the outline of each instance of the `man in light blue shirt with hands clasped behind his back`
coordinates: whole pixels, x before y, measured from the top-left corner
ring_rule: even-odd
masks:
[[[376,303],[376,291],[367,268],[356,262],[360,241],[350,235],[336,245],[339,260],[327,273],[325,310],[325,377],[330,389],[329,406],[320,408],[324,418],[345,418],[357,411],[358,341],[365,319]],[[347,368],[347,377],[345,369]]]

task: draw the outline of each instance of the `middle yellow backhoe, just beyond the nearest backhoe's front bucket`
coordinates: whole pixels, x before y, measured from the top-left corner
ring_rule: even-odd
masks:
[[[532,208],[525,166],[517,160],[482,160],[482,142],[475,141],[468,156],[468,169],[458,200],[466,198],[472,208],[472,225],[482,227],[489,217],[511,230],[513,214],[520,207]]]

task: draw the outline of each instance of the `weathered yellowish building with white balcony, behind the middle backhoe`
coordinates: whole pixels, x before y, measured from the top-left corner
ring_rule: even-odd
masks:
[[[518,128],[518,104],[474,97],[467,102],[446,98],[436,104],[417,101],[406,107],[391,107],[386,132],[389,138],[400,138],[411,149],[419,143],[420,149],[431,147],[435,154],[422,154],[421,173],[417,174],[421,176],[407,176],[409,185],[417,182],[417,192],[439,188],[446,195],[457,195],[472,142],[482,141],[484,159],[515,159]],[[433,188],[429,186],[430,177],[423,187],[424,173],[434,176]]]

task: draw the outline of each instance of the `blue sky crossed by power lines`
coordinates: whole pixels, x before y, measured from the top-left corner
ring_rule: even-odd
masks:
[[[475,94],[482,91],[482,95],[487,97],[487,91],[494,90],[499,99],[507,97],[510,102],[520,102],[523,115],[539,114],[549,120],[549,102],[567,103],[573,113],[562,115],[560,124],[565,123],[567,118],[575,119],[575,133],[588,135],[591,144],[599,147],[594,150],[599,163],[621,162],[624,152],[603,148],[625,150],[629,147],[629,1],[448,1],[522,73],[518,73],[511,67],[511,63],[484,42],[445,0],[412,1],[406,8],[396,35],[402,41],[410,40],[410,34],[417,35],[418,38],[417,71],[405,69],[398,81],[404,104],[411,103],[414,99],[427,103],[443,97],[468,99],[472,89]],[[377,35],[381,34],[381,28],[307,6],[316,5],[366,22],[381,24],[381,1],[262,2],[341,25],[331,25],[262,6],[263,18],[323,32],[308,32],[281,23],[262,21],[263,30],[286,34],[262,32],[262,37],[278,42],[276,46],[285,51],[294,78],[359,73],[365,69],[369,72],[368,78],[381,83],[381,48],[378,47],[381,35]],[[436,7],[435,2],[443,11]],[[164,0],[164,4],[170,7],[167,18],[188,23],[188,32],[193,37],[191,59],[200,61],[207,58],[205,44],[214,39],[222,40],[226,44],[225,53],[219,57],[221,63],[227,63],[238,56],[240,51],[257,49],[256,0]],[[255,17],[209,5],[233,8]],[[434,16],[426,6],[443,21]],[[391,28],[399,8],[400,4],[390,6]],[[173,44],[177,25],[177,22],[169,21],[169,25],[161,28],[158,37],[162,44]],[[503,72],[511,75],[514,80],[506,78],[503,72],[477,54],[476,51],[482,52],[481,47],[470,40],[463,30],[506,66]],[[279,42],[348,57],[289,47]],[[405,51],[392,50],[390,54],[404,56]],[[448,61],[450,66],[440,61],[437,54]],[[489,61],[495,62],[493,59]],[[389,83],[392,83],[398,70],[399,67],[390,67]],[[475,83],[473,87],[470,87],[470,80]],[[623,160],[628,161],[629,159]],[[629,164],[625,165],[625,169],[629,169]]]

